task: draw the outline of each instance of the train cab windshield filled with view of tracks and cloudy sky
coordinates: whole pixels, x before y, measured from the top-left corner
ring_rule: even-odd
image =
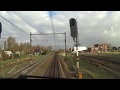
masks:
[[[120,11],[0,11],[0,78],[120,78],[119,18]]]

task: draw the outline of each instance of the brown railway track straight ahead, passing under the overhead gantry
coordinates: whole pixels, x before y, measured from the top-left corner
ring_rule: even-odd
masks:
[[[52,78],[75,79],[75,77],[67,70],[68,69],[64,60],[61,59],[57,53],[55,53],[53,61],[46,70],[45,76]]]

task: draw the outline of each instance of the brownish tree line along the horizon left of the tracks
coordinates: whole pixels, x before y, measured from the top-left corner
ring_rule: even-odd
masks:
[[[31,47],[32,52],[34,52],[34,49],[38,48],[38,45]],[[51,46],[45,47],[39,45],[39,48],[42,51],[48,51],[48,49],[49,51],[51,50]],[[4,50],[2,50],[2,59],[8,60],[9,56],[6,55],[4,51],[11,51],[12,53],[14,53],[14,56],[17,51],[20,52],[21,55],[28,55],[30,53],[30,42],[18,43],[14,37],[10,36],[4,41]]]

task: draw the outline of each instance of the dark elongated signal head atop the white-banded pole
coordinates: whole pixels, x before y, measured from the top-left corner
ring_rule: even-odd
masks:
[[[71,36],[73,38],[76,38],[78,36],[78,30],[77,30],[77,22],[74,18],[71,18],[69,20],[70,23],[70,32],[71,32]]]

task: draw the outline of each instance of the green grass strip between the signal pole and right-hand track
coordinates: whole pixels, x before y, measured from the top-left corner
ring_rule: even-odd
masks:
[[[93,79],[114,79],[115,78],[113,74],[111,74],[110,72],[108,72],[103,68],[93,66],[82,60],[80,60],[79,64],[80,64],[80,71],[83,73],[83,75],[86,75],[87,73],[90,76],[92,76]],[[90,77],[84,77],[84,78],[87,79]]]

